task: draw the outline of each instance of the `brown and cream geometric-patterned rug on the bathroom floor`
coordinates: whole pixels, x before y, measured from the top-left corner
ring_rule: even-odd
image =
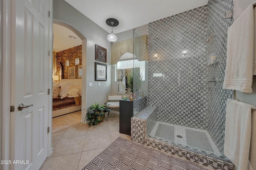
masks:
[[[82,170],[208,170],[159,150],[118,137]]]

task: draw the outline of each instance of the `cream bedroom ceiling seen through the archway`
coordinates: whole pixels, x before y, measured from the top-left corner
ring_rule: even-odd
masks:
[[[76,37],[70,38],[68,36]],[[53,51],[59,52],[82,45],[82,40],[70,29],[53,24]]]

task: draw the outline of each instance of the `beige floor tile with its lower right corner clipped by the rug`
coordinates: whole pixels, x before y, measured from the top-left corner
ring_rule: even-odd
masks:
[[[105,148],[111,143],[110,133],[87,135],[83,151]]]

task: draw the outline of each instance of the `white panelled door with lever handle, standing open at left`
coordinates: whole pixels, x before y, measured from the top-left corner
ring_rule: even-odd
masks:
[[[51,0],[11,1],[11,169],[38,170],[48,155]],[[18,110],[19,104],[33,106]]]

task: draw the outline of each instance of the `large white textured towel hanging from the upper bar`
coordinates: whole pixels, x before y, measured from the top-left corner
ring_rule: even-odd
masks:
[[[253,62],[254,7],[250,5],[228,29],[223,88],[252,93]]]

